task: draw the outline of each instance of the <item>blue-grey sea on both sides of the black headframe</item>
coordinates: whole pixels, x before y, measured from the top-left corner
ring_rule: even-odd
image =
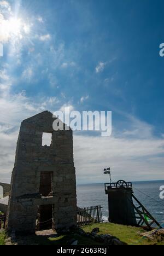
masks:
[[[164,181],[133,182],[137,199],[164,228],[164,199],[160,199],[160,187]],[[77,185],[78,207],[102,206],[103,220],[108,220],[108,196],[104,184]]]

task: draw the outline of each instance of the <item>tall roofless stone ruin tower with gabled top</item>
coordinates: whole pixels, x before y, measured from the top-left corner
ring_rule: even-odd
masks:
[[[38,229],[77,225],[72,130],[54,131],[52,113],[22,121],[7,214],[7,231],[31,234]],[[43,145],[49,133],[51,144]]]

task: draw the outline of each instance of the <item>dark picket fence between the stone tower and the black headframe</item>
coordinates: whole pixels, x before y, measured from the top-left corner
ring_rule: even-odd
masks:
[[[78,226],[85,226],[92,223],[102,223],[102,207],[92,206],[86,208],[79,208],[77,214],[77,223]]]

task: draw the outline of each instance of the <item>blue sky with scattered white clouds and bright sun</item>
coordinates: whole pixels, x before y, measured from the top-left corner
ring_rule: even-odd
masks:
[[[110,138],[74,134],[78,183],[163,179],[163,0],[0,1],[0,173],[21,120],[45,109],[111,110]],[[4,22],[4,23],[3,23]],[[16,31],[14,31],[16,29]]]

